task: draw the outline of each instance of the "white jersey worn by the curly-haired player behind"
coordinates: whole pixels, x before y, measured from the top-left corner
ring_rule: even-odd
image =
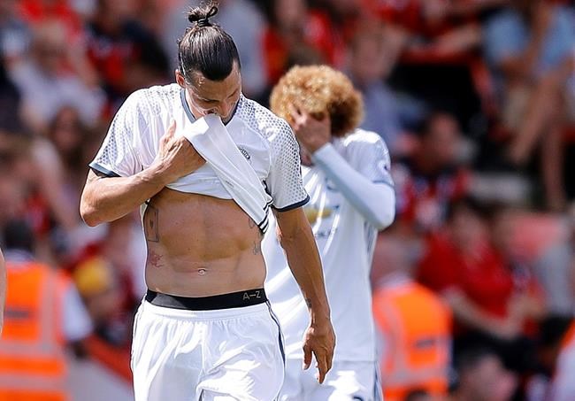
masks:
[[[393,186],[386,144],[379,135],[358,129],[335,138],[335,150],[373,182]],[[377,230],[349,204],[318,166],[303,166],[310,194],[304,211],[322,259],[336,339],[335,360],[375,361],[370,270]],[[275,233],[276,221],[262,245],[268,275],[265,291],[280,318],[288,358],[303,358],[302,339],[310,318]]]

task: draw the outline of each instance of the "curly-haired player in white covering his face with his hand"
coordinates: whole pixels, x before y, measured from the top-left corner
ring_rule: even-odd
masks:
[[[307,312],[288,274],[291,261],[276,238],[265,235],[265,288],[280,318],[288,359],[280,400],[373,400],[380,386],[369,280],[372,251],[378,230],[395,217],[386,144],[379,135],[357,129],[361,96],[330,67],[292,68],[272,90],[271,104],[302,145],[303,184],[311,197],[305,213],[322,258],[338,338],[334,367],[320,386],[299,363]]]

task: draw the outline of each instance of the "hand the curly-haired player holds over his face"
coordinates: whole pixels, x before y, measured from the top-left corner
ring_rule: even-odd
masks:
[[[290,113],[295,138],[311,154],[332,139],[332,123],[327,114],[317,119],[295,107],[291,108]]]

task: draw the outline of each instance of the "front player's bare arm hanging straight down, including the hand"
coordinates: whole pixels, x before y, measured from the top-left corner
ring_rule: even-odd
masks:
[[[310,311],[310,327],[303,339],[303,367],[311,365],[313,353],[318,362],[318,381],[324,382],[332,367],[335,334],[318,248],[302,208],[275,214],[280,244]]]

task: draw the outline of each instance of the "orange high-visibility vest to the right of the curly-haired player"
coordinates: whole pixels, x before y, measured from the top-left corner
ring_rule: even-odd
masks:
[[[432,291],[410,280],[377,289],[373,316],[384,336],[381,382],[386,401],[410,391],[448,390],[451,313]]]

